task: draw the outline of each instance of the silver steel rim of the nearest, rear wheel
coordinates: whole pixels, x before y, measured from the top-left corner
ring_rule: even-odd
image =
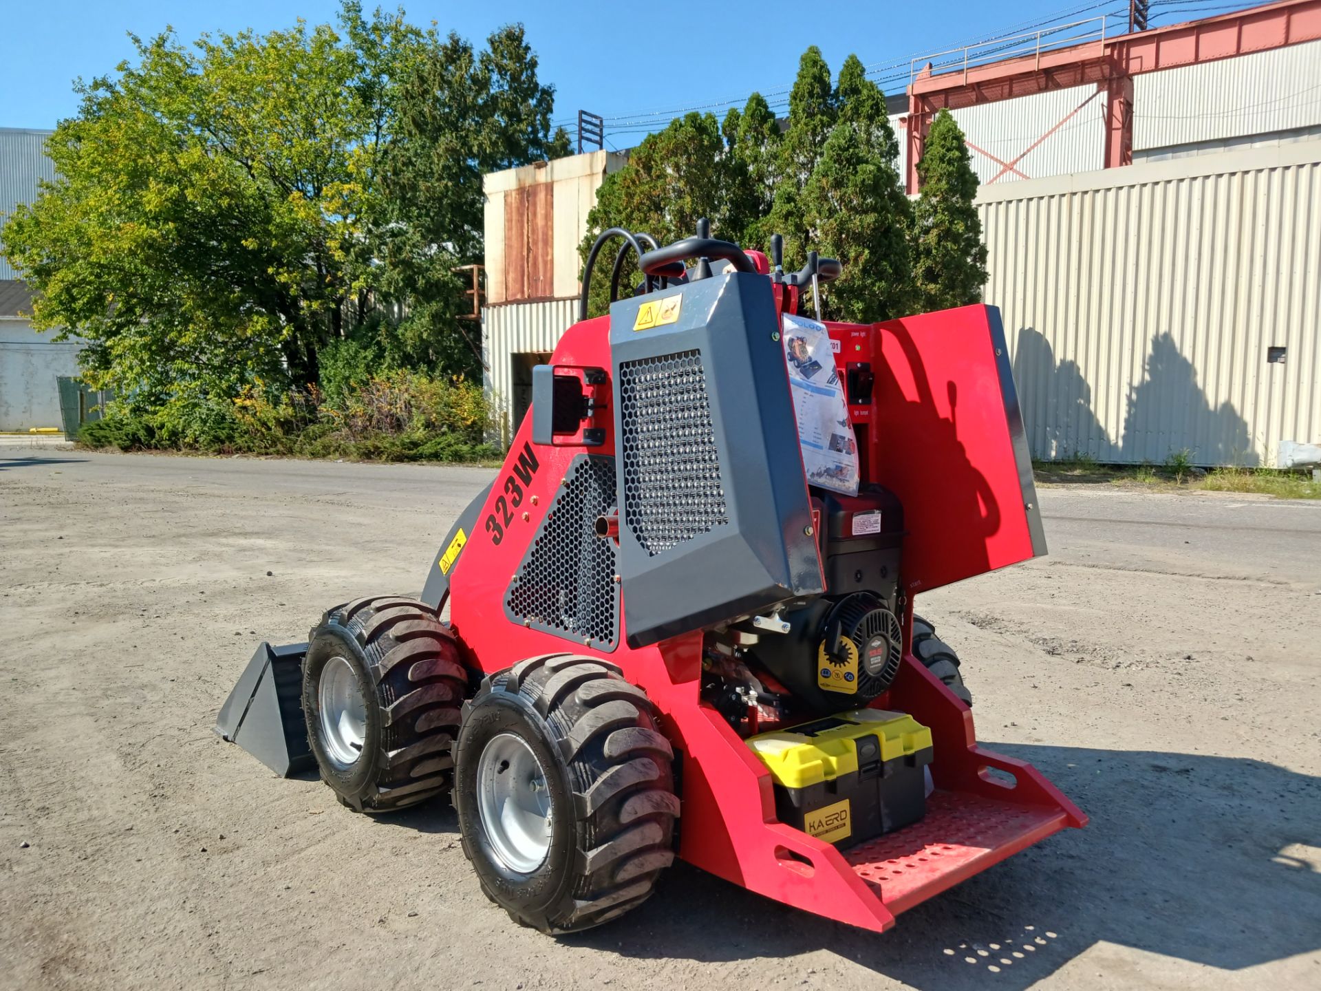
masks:
[[[510,871],[531,873],[551,850],[551,793],[527,741],[499,733],[477,761],[477,814],[495,856]]]

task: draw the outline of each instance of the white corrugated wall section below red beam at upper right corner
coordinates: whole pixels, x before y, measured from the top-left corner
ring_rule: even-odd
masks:
[[[1133,155],[1321,124],[1321,41],[1133,77]]]

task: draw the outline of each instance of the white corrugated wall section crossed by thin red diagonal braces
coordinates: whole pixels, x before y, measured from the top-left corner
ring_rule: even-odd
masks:
[[[1106,94],[1098,92],[1096,86],[963,107],[954,111],[954,119],[963,129],[972,168],[983,184],[1089,172],[1104,165]],[[1013,170],[1007,170],[1011,163]]]

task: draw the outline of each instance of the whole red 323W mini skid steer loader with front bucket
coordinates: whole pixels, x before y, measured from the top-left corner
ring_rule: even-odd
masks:
[[[357,811],[449,793],[486,895],[547,933],[635,908],[676,856],[881,932],[1083,826],[978,745],[958,659],[913,614],[1045,552],[997,312],[808,321],[840,266],[785,272],[779,243],[604,233],[420,597],[263,643],[217,732],[283,774],[314,762]],[[630,250],[645,281],[616,299]]]

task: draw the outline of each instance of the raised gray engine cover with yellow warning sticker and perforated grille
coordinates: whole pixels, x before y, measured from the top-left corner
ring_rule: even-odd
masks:
[[[766,277],[729,272],[620,300],[610,349],[627,643],[820,593]]]

